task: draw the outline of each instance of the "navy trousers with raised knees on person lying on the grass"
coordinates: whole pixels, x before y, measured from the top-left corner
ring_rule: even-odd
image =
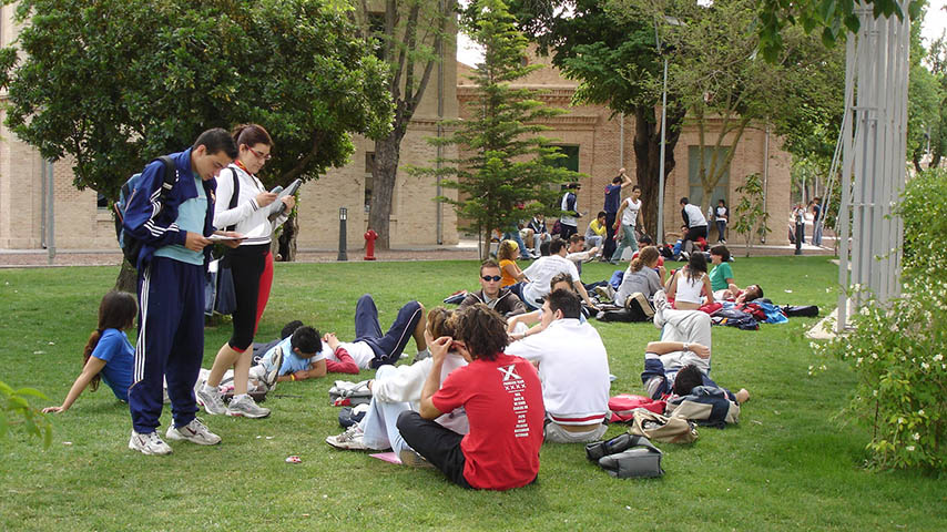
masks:
[[[375,299],[370,294],[365,294],[355,305],[355,340],[353,341],[364,341],[371,346],[371,350],[375,351],[375,360],[370,364],[373,368],[395,364],[422,316],[421,305],[418,301],[409,301],[398,310],[391,327],[383,334]]]

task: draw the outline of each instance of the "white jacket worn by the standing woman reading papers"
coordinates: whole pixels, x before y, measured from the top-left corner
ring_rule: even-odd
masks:
[[[231,198],[234,193],[234,173],[240,182],[240,197],[236,206],[230,208]],[[214,204],[214,227],[225,229],[231,225],[236,225],[237,233],[246,237],[241,243],[244,245],[269,244],[273,232],[283,225],[288,218],[288,213],[281,214],[273,222],[269,221],[269,215],[283,202],[273,202],[271,205],[259,207],[256,204],[256,195],[261,192],[267,192],[255,176],[248,174],[236,164],[231,164],[217,175],[217,198]]]

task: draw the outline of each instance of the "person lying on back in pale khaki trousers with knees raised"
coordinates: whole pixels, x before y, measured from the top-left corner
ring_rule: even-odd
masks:
[[[719,386],[710,378],[711,318],[700,310],[671,308],[662,290],[654,294],[654,326],[661,329],[661,340],[648,344],[644,351],[644,371],[641,382],[652,399],[663,399],[672,393],[686,395],[693,388],[675,388],[680,371],[694,366],[700,370],[700,385],[721,388],[731,401],[742,403],[750,392],[736,393]],[[686,374],[685,374],[686,375]]]

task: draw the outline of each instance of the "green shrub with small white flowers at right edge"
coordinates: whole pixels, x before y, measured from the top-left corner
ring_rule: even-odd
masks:
[[[947,172],[927,172],[908,183],[896,209],[905,227],[904,296],[880,305],[866,294],[853,332],[813,345],[858,375],[846,411],[872,427],[868,450],[880,469],[947,471],[945,192]]]

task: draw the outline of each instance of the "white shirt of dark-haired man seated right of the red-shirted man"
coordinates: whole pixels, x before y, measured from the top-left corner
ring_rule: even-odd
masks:
[[[503,351],[539,360],[542,402],[560,424],[594,426],[609,409],[609,356],[599,331],[574,318],[557,319],[542,332]]]

